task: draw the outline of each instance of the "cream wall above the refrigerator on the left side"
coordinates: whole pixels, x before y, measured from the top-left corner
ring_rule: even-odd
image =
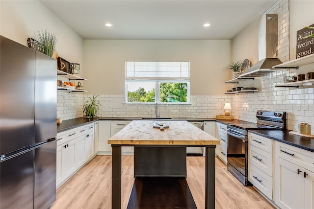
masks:
[[[27,38],[41,29],[57,33],[56,51],[80,64],[83,76],[83,39],[38,0],[0,0],[0,34],[27,46]]]

